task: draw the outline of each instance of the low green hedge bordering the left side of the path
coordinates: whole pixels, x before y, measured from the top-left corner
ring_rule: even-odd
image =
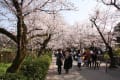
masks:
[[[38,58],[27,57],[19,73],[0,76],[0,80],[44,80],[51,63],[51,53]]]

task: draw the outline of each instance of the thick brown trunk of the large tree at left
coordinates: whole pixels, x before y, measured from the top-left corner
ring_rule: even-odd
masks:
[[[18,17],[17,22],[17,54],[15,59],[13,60],[12,65],[7,69],[8,73],[16,73],[18,72],[25,56],[26,56],[26,44],[27,44],[27,28],[24,24],[23,18]]]

